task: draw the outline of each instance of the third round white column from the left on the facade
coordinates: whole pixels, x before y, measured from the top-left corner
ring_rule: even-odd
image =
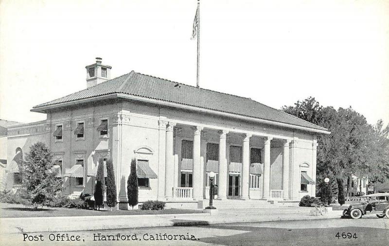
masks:
[[[219,131],[219,183],[218,198],[227,199],[227,159],[226,159],[226,136],[228,131]]]

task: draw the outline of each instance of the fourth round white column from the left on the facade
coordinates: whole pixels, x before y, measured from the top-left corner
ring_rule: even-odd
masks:
[[[250,137],[251,134],[243,134],[243,147],[242,147],[242,195],[241,199],[248,200],[248,182],[250,178]],[[270,162],[269,162],[270,163]]]

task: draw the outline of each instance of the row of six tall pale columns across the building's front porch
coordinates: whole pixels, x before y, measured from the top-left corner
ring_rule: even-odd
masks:
[[[158,199],[173,197],[175,176],[174,168],[174,141],[173,129],[176,124],[167,121],[159,121],[159,166],[158,166]],[[203,199],[203,187],[200,182],[201,173],[201,131],[203,127],[192,126],[193,129],[193,198]],[[227,158],[226,137],[229,131],[219,130],[219,199],[227,198]],[[251,134],[242,135],[242,170],[241,170],[241,199],[249,199],[249,163]],[[263,198],[270,198],[270,142],[273,138],[264,137],[264,174],[263,174]],[[283,197],[289,197],[289,140],[283,144]],[[161,178],[162,177],[162,178]]]

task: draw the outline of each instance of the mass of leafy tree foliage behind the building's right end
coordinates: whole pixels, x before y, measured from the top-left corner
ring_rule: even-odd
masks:
[[[351,107],[323,107],[313,97],[282,110],[331,132],[318,135],[317,180],[355,175],[375,183],[389,177],[389,125],[381,120],[371,125]]]

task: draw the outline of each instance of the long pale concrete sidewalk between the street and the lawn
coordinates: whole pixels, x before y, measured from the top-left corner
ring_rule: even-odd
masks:
[[[1,218],[0,234],[106,230],[146,227],[196,226],[242,222],[315,220],[340,218],[342,211],[309,215],[311,208],[283,207],[265,209],[220,210],[217,214],[115,215],[77,217]]]

